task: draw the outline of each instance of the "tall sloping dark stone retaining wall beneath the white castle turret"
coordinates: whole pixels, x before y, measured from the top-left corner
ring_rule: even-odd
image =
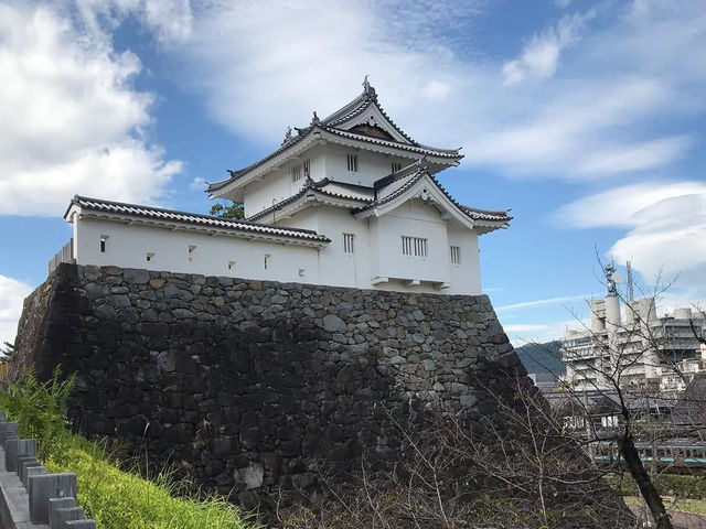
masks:
[[[89,435],[253,504],[386,464],[442,406],[480,420],[524,376],[485,295],[361,291],[61,264],[28,298],[12,375],[77,374]]]

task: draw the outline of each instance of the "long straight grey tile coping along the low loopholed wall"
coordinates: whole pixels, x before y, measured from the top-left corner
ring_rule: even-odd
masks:
[[[323,235],[319,235],[311,229],[300,228],[280,228],[266,224],[257,224],[249,220],[238,220],[231,218],[213,217],[210,215],[200,215],[196,213],[184,213],[172,209],[162,209],[160,207],[140,206],[136,204],[124,204],[120,202],[103,201],[99,198],[88,198],[85,196],[74,196],[68,206],[77,205],[82,209],[90,209],[95,212],[113,213],[127,215],[130,217],[151,218],[158,220],[184,223],[196,226],[224,228],[234,231],[247,231],[253,234],[270,235],[275,237],[290,237],[297,239],[307,239],[317,242],[330,242],[330,239]],[[66,212],[68,213],[68,210]]]

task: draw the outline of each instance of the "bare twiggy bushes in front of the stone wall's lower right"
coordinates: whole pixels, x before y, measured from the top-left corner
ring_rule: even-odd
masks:
[[[407,449],[394,468],[373,472],[363,457],[344,483],[321,476],[323,492],[282,499],[279,527],[633,527],[603,472],[535,388],[509,378],[506,389],[489,389],[496,409],[480,423],[442,410],[424,431],[399,427]]]

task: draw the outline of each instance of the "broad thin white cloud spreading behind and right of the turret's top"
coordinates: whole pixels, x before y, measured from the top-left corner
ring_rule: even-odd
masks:
[[[468,47],[478,2],[432,8],[425,0],[213,0],[194,9],[191,36],[164,50],[182,61],[215,121],[271,145],[287,125],[304,126],[312,110],[323,116],[354,97],[365,74],[413,137],[462,144],[464,166],[515,177],[651,170],[694,144],[692,131],[652,126],[706,109],[706,24],[694,9],[645,18],[606,2],[567,13],[506,60]],[[449,31],[463,11],[463,31]]]

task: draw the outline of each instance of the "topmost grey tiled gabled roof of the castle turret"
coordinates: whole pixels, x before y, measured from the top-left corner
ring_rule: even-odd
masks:
[[[220,182],[210,183],[206,192],[214,196],[218,191],[244,180],[267,162],[286,155],[290,151],[306,150],[309,144],[321,140],[340,143],[356,143],[361,148],[372,150],[393,149],[420,154],[430,160],[438,160],[446,165],[457,165],[462,156],[460,149],[439,149],[425,145],[411,139],[388,116],[377,101],[375,89],[367,83],[363,83],[363,93],[347,105],[331,114],[323,120],[317,112],[309,127],[298,128],[296,134],[288,129],[287,136],[279,149],[246,168],[228,170],[229,177]],[[370,111],[367,116],[366,111]],[[365,118],[367,116],[367,118]],[[299,149],[297,149],[299,148]],[[260,171],[261,172],[261,171]]]

